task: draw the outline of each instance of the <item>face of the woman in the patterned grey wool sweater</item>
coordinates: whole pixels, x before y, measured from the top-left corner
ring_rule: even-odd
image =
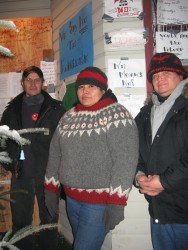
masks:
[[[104,90],[92,84],[80,85],[77,89],[77,96],[84,107],[91,107],[103,96]]]

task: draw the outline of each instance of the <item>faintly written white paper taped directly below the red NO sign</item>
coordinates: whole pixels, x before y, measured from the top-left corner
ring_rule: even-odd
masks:
[[[144,29],[121,29],[106,34],[107,49],[133,49],[144,48],[146,39],[143,38]]]

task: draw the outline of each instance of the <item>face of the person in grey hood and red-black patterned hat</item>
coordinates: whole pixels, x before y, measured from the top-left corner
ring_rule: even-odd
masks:
[[[162,71],[153,75],[152,83],[160,96],[169,96],[182,79],[183,77],[175,72]]]

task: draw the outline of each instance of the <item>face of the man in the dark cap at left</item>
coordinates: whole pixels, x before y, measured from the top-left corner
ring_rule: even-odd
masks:
[[[30,73],[22,82],[23,90],[26,93],[26,96],[33,96],[40,94],[42,90],[42,79],[38,76],[37,73]]]

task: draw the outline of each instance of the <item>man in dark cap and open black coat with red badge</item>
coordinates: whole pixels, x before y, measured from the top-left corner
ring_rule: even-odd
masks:
[[[50,215],[44,201],[44,175],[48,161],[49,146],[52,135],[59,119],[64,113],[61,102],[53,99],[42,90],[44,82],[43,73],[36,66],[24,70],[21,84],[23,92],[16,96],[6,107],[0,125],[7,125],[10,129],[20,130],[27,128],[47,128],[48,134],[31,133],[23,135],[31,141],[30,145],[20,149],[14,141],[8,141],[7,151],[12,163],[4,167],[12,172],[11,191],[26,190],[28,194],[16,192],[11,198],[12,230],[32,224],[35,195],[38,202],[40,223],[57,223],[58,214]],[[23,150],[24,158],[20,158]],[[58,204],[58,201],[56,201]],[[55,204],[57,206],[57,204]],[[56,249],[57,230],[45,230],[39,235],[39,249]],[[33,237],[26,238],[15,244],[21,250],[36,249]]]

